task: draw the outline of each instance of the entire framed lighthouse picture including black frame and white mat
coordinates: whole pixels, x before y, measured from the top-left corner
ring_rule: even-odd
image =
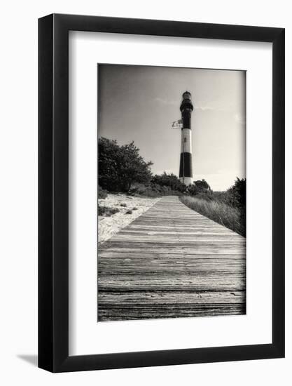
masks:
[[[39,367],[284,357],[284,29],[39,19]]]

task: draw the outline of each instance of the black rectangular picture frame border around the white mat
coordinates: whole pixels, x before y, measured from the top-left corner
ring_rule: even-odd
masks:
[[[69,31],[272,43],[272,343],[69,356]],[[284,29],[52,14],[39,19],[39,367],[52,372],[284,357]]]

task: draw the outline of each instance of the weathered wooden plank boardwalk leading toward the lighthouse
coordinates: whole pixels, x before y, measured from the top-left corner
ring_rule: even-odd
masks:
[[[98,248],[98,321],[246,312],[246,240],[163,197]]]

